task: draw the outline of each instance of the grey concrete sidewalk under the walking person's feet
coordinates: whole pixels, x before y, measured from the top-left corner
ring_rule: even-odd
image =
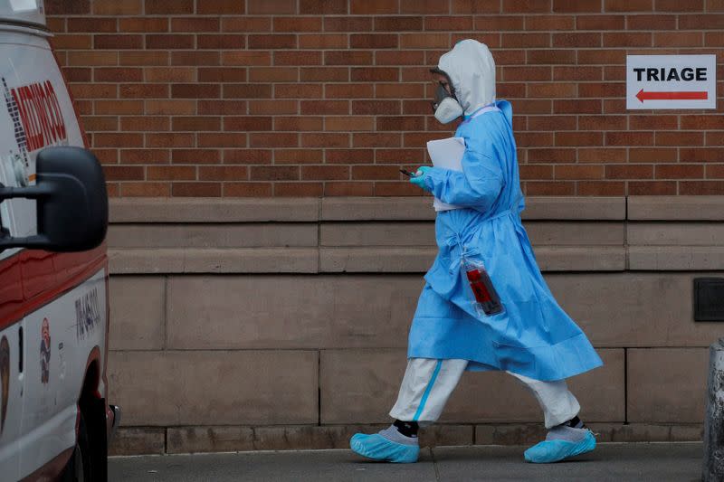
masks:
[[[700,443],[600,444],[576,461],[538,466],[522,447],[424,449],[411,465],[368,462],[349,450],[110,458],[110,481],[300,480],[700,480]]]

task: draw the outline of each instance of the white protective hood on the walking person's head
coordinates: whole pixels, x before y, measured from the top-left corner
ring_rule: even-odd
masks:
[[[486,44],[462,40],[440,57],[437,68],[450,76],[465,115],[495,101],[495,61]]]

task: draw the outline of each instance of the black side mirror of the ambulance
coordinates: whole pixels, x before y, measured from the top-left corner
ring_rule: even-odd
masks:
[[[37,200],[38,233],[0,237],[0,250],[82,251],[100,246],[108,231],[108,194],[96,156],[81,147],[46,147],[36,158],[36,183],[0,187],[0,201]]]

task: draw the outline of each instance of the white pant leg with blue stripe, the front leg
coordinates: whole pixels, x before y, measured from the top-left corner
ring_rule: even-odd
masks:
[[[410,358],[390,416],[423,425],[436,421],[467,365],[467,360]]]

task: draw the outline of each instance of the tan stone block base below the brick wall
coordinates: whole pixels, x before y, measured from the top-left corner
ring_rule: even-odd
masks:
[[[435,253],[429,199],[115,200],[112,452],[346,447],[384,426]],[[718,197],[529,198],[561,306],[604,367],[570,379],[604,441],[699,440],[707,346],[693,279],[724,276]],[[466,373],[424,443],[528,443],[541,413],[504,373]]]

